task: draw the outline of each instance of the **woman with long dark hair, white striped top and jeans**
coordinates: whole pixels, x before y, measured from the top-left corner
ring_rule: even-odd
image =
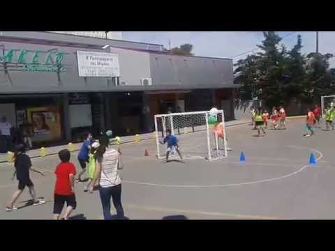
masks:
[[[117,219],[124,219],[124,208],[121,204],[121,177],[119,174],[120,153],[109,147],[109,139],[101,137],[100,146],[96,153],[96,170],[90,190],[94,190],[94,184],[99,179],[99,192],[103,206],[103,217],[105,220],[112,220],[110,213],[110,198],[117,210]]]

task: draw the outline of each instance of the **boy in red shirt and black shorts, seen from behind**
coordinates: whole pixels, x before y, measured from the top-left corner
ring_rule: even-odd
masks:
[[[54,188],[54,220],[59,220],[61,211],[66,202],[66,213],[64,220],[77,206],[75,200],[75,166],[70,163],[70,151],[64,149],[58,153],[61,163],[57,165],[54,174],[57,176]]]

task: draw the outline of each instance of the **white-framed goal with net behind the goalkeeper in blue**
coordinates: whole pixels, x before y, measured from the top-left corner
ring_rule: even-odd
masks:
[[[161,142],[169,129],[179,139],[179,150],[185,159],[206,158],[211,161],[227,157],[223,110],[218,110],[215,117],[216,123],[223,124],[223,138],[214,132],[213,118],[207,111],[155,115],[158,159],[166,156],[167,145]],[[178,159],[179,155],[172,151],[169,158]]]

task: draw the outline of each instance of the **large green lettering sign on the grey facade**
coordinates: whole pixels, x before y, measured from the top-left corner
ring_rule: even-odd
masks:
[[[5,50],[0,53],[0,70],[60,73],[66,71],[65,56],[55,50]]]

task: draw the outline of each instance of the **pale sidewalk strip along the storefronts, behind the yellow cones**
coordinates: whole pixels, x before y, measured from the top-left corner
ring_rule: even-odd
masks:
[[[250,120],[234,120],[234,121],[228,121],[225,123],[226,127],[230,127],[230,126],[237,126],[237,125],[244,125],[244,124],[248,124],[250,123]],[[195,132],[199,130],[199,128],[195,128]],[[200,128],[200,130],[203,130],[202,128]],[[141,140],[147,140],[147,139],[153,139],[153,132],[149,132],[149,133],[144,133],[140,135],[140,139]],[[121,144],[125,144],[125,143],[130,143],[130,142],[134,142],[135,139],[135,135],[131,135],[131,136],[124,136],[124,137],[120,137],[121,138]],[[73,144],[75,151],[79,151],[80,147],[82,146],[82,143],[77,143],[77,144]],[[67,145],[62,145],[62,146],[50,146],[50,147],[45,147],[46,153],[47,155],[54,155],[57,154],[59,151],[61,151],[61,149],[68,149]],[[30,158],[38,158],[40,157],[40,149],[33,149],[30,151],[27,151],[27,155],[29,155]],[[0,153],[0,163],[3,162],[7,162],[7,158],[8,155],[7,153]]]

